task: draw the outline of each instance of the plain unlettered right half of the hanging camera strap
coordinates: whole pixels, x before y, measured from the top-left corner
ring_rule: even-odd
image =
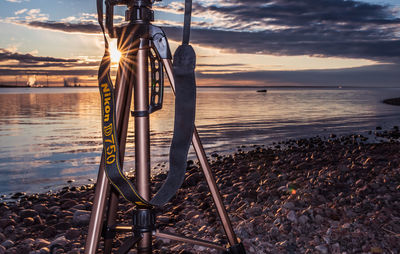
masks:
[[[165,200],[170,200],[182,185],[187,167],[187,153],[194,132],[196,54],[192,46],[188,45],[191,9],[192,0],[186,0],[182,45],[176,49],[172,65],[175,80],[175,119],[169,153],[170,170],[164,184],[151,200],[154,204],[163,204]]]

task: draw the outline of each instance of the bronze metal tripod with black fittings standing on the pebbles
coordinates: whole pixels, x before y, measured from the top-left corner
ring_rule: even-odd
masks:
[[[101,0],[98,0],[98,4],[99,1],[101,2]],[[127,5],[126,17],[129,21],[128,24],[113,27],[113,7],[115,5]],[[120,165],[123,164],[130,103],[132,94],[134,94],[134,111],[132,115],[135,117],[136,186],[138,194],[145,201],[149,201],[151,198],[149,114],[161,109],[162,106],[163,69],[165,69],[172,91],[176,92],[176,76],[174,75],[167,37],[161,28],[151,25],[151,21],[153,20],[151,6],[151,0],[106,0],[107,30],[110,37],[117,38],[118,47],[122,53],[122,60],[118,66],[115,85],[115,124],[119,144],[119,163]],[[102,16],[101,11],[101,13],[99,12],[101,26]],[[151,73],[149,73],[149,65],[151,66]],[[149,74],[152,77],[151,94],[149,93]],[[151,98],[150,102],[149,97]],[[229,245],[220,246],[214,242],[157,230],[155,212],[149,206],[136,205],[133,214],[133,225],[118,225],[116,215],[120,194],[114,188],[115,185],[113,187],[107,177],[104,165],[108,162],[108,158],[107,156],[102,156],[85,245],[86,254],[96,253],[101,236],[104,237],[103,252],[111,253],[113,238],[117,232],[132,232],[132,236],[120,246],[117,253],[127,253],[137,245],[137,253],[150,254],[152,253],[153,237],[205,246],[223,251],[224,253],[245,253],[242,243],[239,242],[233,231],[195,127],[192,135],[192,145],[209,186]],[[103,151],[103,155],[104,153],[106,151]]]

